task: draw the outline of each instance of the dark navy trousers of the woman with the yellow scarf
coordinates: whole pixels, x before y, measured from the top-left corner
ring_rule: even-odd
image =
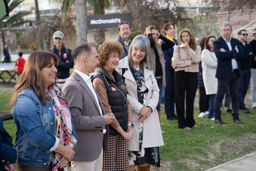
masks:
[[[174,71],[165,70],[166,87],[164,89],[164,110],[166,116],[174,115]]]

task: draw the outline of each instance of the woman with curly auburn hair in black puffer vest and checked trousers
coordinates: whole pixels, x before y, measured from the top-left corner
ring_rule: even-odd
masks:
[[[92,78],[105,112],[116,117],[109,124],[109,147],[103,152],[103,171],[129,170],[127,142],[133,137],[132,114],[123,77],[115,70],[123,52],[118,41],[104,41],[98,48],[99,71]]]

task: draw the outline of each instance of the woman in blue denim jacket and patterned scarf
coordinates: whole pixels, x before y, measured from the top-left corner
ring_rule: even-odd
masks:
[[[14,90],[11,108],[17,126],[18,171],[67,170],[75,154],[67,99],[56,85],[57,63],[52,52],[31,53]]]

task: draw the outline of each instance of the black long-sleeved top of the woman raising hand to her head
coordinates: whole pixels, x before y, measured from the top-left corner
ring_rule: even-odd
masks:
[[[155,72],[155,76],[163,76],[162,65],[160,63],[159,55],[158,55],[158,52],[157,52],[156,47],[155,47],[156,42],[155,42],[154,38],[152,37],[151,33],[148,34],[148,39],[150,41],[150,47],[154,49],[155,56],[156,56],[156,72]],[[162,45],[161,45],[162,50],[166,50],[166,49],[172,48],[175,45],[175,43],[173,41],[170,41],[169,39],[167,39],[166,37],[162,36],[161,34],[159,36],[159,39],[165,41],[165,43],[162,43]]]

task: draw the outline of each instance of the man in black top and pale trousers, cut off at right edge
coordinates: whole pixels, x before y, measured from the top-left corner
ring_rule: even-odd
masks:
[[[249,43],[252,47],[254,54],[256,54],[256,28],[252,31],[252,35],[254,39]],[[254,55],[255,56],[255,55]],[[252,108],[256,109],[256,56],[252,60],[251,59],[251,101],[252,101]]]

